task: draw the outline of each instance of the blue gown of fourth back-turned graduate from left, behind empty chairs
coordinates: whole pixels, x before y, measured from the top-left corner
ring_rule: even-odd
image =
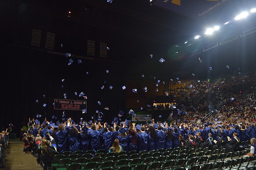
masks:
[[[96,153],[98,149],[102,148],[102,134],[99,130],[92,130],[90,132],[90,150],[94,150],[94,152]]]

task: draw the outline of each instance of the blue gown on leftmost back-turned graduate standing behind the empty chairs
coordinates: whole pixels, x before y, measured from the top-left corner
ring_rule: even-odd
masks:
[[[69,128],[65,128],[65,130],[58,131],[55,135],[54,139],[57,144],[57,151],[60,153],[67,151],[68,149],[68,143],[67,143],[68,132],[69,132]]]

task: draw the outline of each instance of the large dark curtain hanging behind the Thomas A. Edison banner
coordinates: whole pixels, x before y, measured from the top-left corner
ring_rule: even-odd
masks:
[[[1,48],[1,127],[12,122],[18,133],[29,117],[36,119],[36,114],[42,115],[41,122],[45,113],[47,120],[52,120],[53,114],[61,120],[63,111],[53,109],[54,98],[64,99],[63,94],[66,93],[67,99],[85,100],[76,96],[75,91],[78,94],[83,91],[88,97],[87,114],[65,111],[66,117],[72,117],[75,122],[80,117],[89,121],[92,115],[97,117],[96,110],[99,110],[104,113],[103,121],[111,123],[119,110],[125,111],[125,90],[122,90],[125,64],[97,59],[82,59],[83,63],[78,64],[79,58],[73,58],[74,63],[68,66],[65,56],[9,45]],[[105,72],[107,69],[109,73]],[[105,87],[103,90],[100,89],[102,85]],[[109,89],[110,85],[113,90]],[[44,103],[46,107],[42,106]],[[109,111],[104,107],[109,107]]]

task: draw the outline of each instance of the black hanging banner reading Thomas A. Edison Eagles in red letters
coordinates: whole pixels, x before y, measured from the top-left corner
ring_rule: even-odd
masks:
[[[87,109],[87,101],[54,99],[54,109],[81,111]]]

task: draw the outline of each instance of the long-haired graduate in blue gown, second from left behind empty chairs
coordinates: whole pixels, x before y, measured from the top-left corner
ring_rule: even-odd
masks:
[[[75,151],[79,151],[78,130],[76,127],[71,128],[68,134],[68,148],[72,154]]]

